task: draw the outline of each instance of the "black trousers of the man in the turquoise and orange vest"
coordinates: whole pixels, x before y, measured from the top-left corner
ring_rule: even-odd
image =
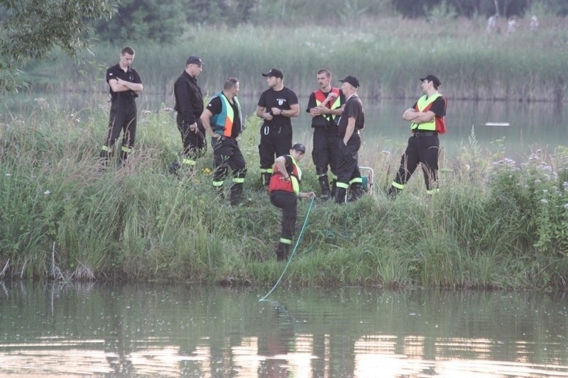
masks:
[[[234,182],[239,182],[246,175],[246,162],[239,149],[236,138],[211,138],[213,148],[214,174],[213,183],[221,187],[226,177],[227,170],[231,168]]]

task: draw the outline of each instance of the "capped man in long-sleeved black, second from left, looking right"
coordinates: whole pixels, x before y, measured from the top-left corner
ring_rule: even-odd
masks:
[[[203,112],[203,94],[197,85],[197,76],[203,70],[200,57],[191,55],[185,62],[185,70],[174,84],[175,111],[178,112],[176,123],[182,135],[183,151],[181,163],[170,164],[169,171],[176,173],[180,167],[192,171],[197,157],[207,148],[205,145],[205,129],[200,120]]]

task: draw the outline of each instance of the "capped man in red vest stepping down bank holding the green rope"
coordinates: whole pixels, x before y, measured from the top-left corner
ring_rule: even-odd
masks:
[[[276,260],[282,261],[288,258],[292,238],[296,230],[297,199],[314,198],[315,193],[300,191],[302,170],[297,163],[302,160],[306,148],[301,143],[296,143],[290,148],[290,155],[279,156],[274,163],[273,173],[268,184],[268,192],[271,194],[271,203],[282,209],[282,233],[276,248]]]

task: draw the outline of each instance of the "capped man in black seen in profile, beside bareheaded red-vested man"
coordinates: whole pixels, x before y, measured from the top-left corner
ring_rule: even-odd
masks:
[[[342,116],[337,126],[337,190],[334,200],[343,204],[347,200],[347,189],[351,187],[351,200],[355,201],[363,194],[363,180],[359,172],[359,148],[361,147],[360,130],[365,126],[365,111],[361,99],[357,96],[359,80],[347,76],[342,82],[342,91],[347,99]]]

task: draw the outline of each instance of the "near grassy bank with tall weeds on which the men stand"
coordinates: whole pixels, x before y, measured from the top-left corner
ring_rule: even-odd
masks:
[[[180,142],[173,115],[143,113],[127,167],[97,172],[105,106],[83,116],[38,103],[0,125],[0,276],[271,285],[280,213],[258,191],[258,121],[241,149],[246,201],[215,199],[211,176],[166,172]],[[297,135],[307,145],[310,135]],[[439,195],[413,177],[396,201],[383,194],[399,152],[365,145],[372,194],[346,206],[315,202],[285,285],[564,288],[568,279],[568,150],[523,162],[484,154],[472,133],[442,157]],[[443,143],[443,142],[442,142]],[[316,190],[309,157],[303,189]],[[200,167],[212,164],[211,151]],[[299,207],[298,233],[309,208]]]

